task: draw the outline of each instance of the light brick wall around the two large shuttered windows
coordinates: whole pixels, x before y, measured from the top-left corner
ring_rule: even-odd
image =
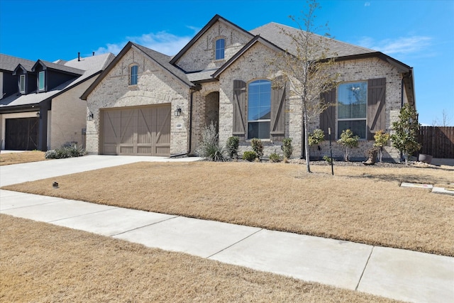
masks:
[[[234,62],[228,70],[221,74],[219,79],[219,141],[221,144],[232,133],[233,127],[233,80],[241,79],[245,82],[251,82],[255,79],[270,79],[270,67],[266,64],[265,58],[274,56],[272,50],[264,45],[257,43],[247,53]],[[367,58],[360,60],[348,60],[336,62],[333,66],[333,72],[340,72],[341,82],[367,81],[367,79],[376,79],[386,77],[386,121],[387,133],[391,132],[392,122],[396,121],[399,116],[401,106],[401,85],[402,75],[395,67],[378,58]],[[287,99],[285,107],[285,136],[292,138],[294,146],[293,157],[301,156],[301,101],[298,97],[289,97],[287,87]],[[316,118],[309,123],[309,131],[319,128],[319,119]],[[336,133],[333,130],[333,134]],[[272,142],[263,140],[265,145],[265,156],[270,153],[280,153],[281,142]],[[360,148],[352,150],[352,158],[364,158],[365,151],[370,148],[373,141],[361,141]],[[326,141],[321,145],[321,156],[328,155],[328,136]],[[240,143],[240,152],[251,150],[250,141]],[[316,155],[312,152],[311,155]],[[333,136],[333,156],[342,157],[343,150],[336,143]],[[384,158],[399,158],[399,152],[390,146],[384,150]]]

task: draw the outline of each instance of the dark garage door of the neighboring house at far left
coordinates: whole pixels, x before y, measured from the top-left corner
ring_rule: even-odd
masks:
[[[38,117],[6,119],[5,128],[6,150],[38,149]]]

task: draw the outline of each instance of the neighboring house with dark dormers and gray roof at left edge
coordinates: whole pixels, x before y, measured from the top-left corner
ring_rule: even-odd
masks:
[[[114,57],[109,53],[67,62],[33,62],[0,54],[1,149],[82,145],[87,103],[80,96]]]

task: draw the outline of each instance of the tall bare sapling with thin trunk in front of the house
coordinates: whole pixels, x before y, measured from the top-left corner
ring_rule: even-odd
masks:
[[[289,16],[297,23],[295,28],[281,28],[282,34],[289,38],[291,44],[285,52],[279,53],[270,62],[279,70],[284,82],[290,86],[290,97],[301,98],[302,123],[304,126],[304,158],[306,170],[311,172],[309,162],[309,121],[335,104],[328,104],[321,99],[337,85],[338,74],[331,72],[336,53],[331,52],[328,33],[318,35],[316,32],[327,29],[327,26],[314,26],[315,12],[321,7],[315,0],[307,1],[307,11],[302,16]],[[302,150],[301,150],[302,153]]]

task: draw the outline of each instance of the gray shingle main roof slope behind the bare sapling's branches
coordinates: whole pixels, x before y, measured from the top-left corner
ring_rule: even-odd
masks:
[[[283,31],[291,35],[297,35],[301,33],[301,31],[297,28],[284,26],[283,24],[275,22],[267,23],[264,26],[255,28],[252,31],[250,31],[250,33],[253,33],[254,35],[260,35],[262,38],[265,38],[271,43],[279,46],[279,48],[287,50],[289,51],[289,53],[295,55],[296,51],[295,46],[292,44],[292,38],[289,35],[284,34]],[[304,34],[306,32],[302,33]],[[313,33],[311,33],[311,35],[313,35],[314,38],[322,38],[323,41],[327,43],[329,50],[336,54],[336,57],[377,53],[376,50],[371,50],[369,48],[362,48],[361,46],[358,45],[352,45],[339,40],[329,39]]]

